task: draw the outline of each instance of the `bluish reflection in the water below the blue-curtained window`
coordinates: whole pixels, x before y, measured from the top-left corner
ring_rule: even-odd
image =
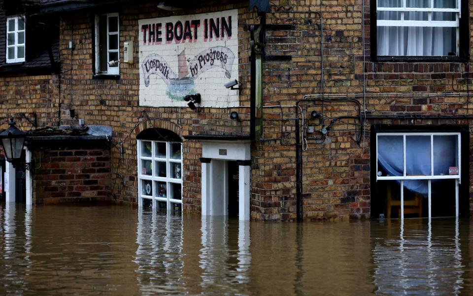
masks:
[[[459,224],[458,219],[387,222],[387,237],[386,228],[378,228],[372,236],[376,293],[459,294],[464,286]]]

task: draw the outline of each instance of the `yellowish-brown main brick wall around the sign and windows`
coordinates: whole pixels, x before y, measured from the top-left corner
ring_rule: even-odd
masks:
[[[291,55],[292,58],[289,61],[266,61],[263,65],[264,133],[262,140],[252,144],[252,218],[290,220],[296,217],[295,119],[299,118],[303,122],[301,111],[306,119],[304,123],[313,126],[316,131],[305,135],[302,152],[304,217],[307,219],[370,216],[371,124],[470,126],[468,118],[403,119],[405,114],[472,115],[469,89],[472,84],[471,61],[372,61],[370,1],[364,1],[364,13],[363,2],[354,0],[322,0],[321,6],[317,0],[271,1],[273,12],[267,15],[267,23],[290,25],[290,29],[268,30],[266,53]],[[93,78],[93,12],[74,12],[64,13],[60,26],[62,70],[65,71],[60,81],[61,96],[54,75],[41,78],[43,80],[35,78],[39,80],[31,83],[30,87],[26,87],[27,77],[0,78],[1,90],[10,93],[8,100],[3,103],[4,110],[29,110],[30,106],[34,106],[31,110],[41,110],[39,117],[44,120],[42,125],[54,125],[57,119],[54,114],[61,106],[62,124],[76,123],[69,118],[68,109],[73,108],[86,124],[112,126],[113,142],[121,143],[124,151],[123,155],[117,148],[110,151],[113,172],[111,184],[115,184],[112,193],[117,200],[136,202],[137,126],[168,126],[181,137],[193,133],[243,135],[249,132],[248,26],[258,24],[259,17],[255,11],[247,8],[246,1],[205,1],[202,7],[178,13],[238,8],[238,80],[242,82],[242,90],[239,91],[242,107],[205,107],[190,111],[188,108],[139,106],[137,46],[134,63],[120,64],[120,79]],[[155,2],[126,4],[117,9],[120,15],[120,49],[126,40],[133,40],[137,44],[138,19],[172,14],[157,10]],[[473,7],[470,7],[470,11],[473,11]],[[320,32],[321,22],[323,36]],[[73,51],[68,48],[69,40],[75,44]],[[321,40],[324,42],[323,50]],[[122,54],[120,50],[121,58]],[[49,82],[45,84],[46,81]],[[37,85],[43,86],[39,87],[36,94]],[[16,93],[18,89],[20,91]],[[46,89],[49,91],[45,92]],[[322,92],[326,101],[307,100],[299,104],[301,109],[295,107],[304,95]],[[25,95],[28,98],[36,97],[28,101],[24,99]],[[332,100],[334,98],[359,102],[363,114],[391,117],[367,118],[362,129],[356,117],[360,112],[357,110],[358,105],[353,101],[335,102]],[[48,105],[45,102],[50,103]],[[230,120],[231,111],[238,111],[243,121]],[[310,119],[311,111],[322,113],[324,122]],[[322,137],[319,131],[338,116],[347,117],[336,121],[326,137]],[[25,121],[22,124],[27,126]],[[199,213],[201,144],[198,141],[184,141],[183,154],[183,208]]]

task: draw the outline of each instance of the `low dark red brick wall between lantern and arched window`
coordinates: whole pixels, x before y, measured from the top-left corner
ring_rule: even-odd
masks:
[[[33,203],[110,202],[110,151],[99,148],[36,150]]]

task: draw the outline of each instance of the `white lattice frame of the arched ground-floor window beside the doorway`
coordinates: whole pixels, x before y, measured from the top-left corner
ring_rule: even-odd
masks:
[[[143,142],[151,142],[151,157],[142,156],[141,155],[141,148]],[[156,156],[156,144],[157,143],[166,143],[166,158],[161,158]],[[179,143],[181,145],[181,157],[180,159],[171,158],[171,148],[172,144]],[[172,210],[171,204],[182,204],[182,176],[183,176],[183,166],[182,166],[182,143],[180,142],[164,142],[164,141],[152,141],[152,140],[137,140],[137,159],[138,159],[138,207],[141,207],[143,204],[143,199],[149,199],[152,201],[153,208],[156,207],[157,201],[163,201],[167,203],[167,211]],[[142,160],[149,160],[152,163],[151,167],[151,176],[143,175],[142,174]],[[157,165],[155,165],[156,161],[166,161],[166,177],[158,177],[156,174]],[[171,178],[170,171],[171,165],[174,163],[178,163],[181,165],[181,176],[180,179]],[[142,194],[142,180],[147,180],[152,182],[152,192],[151,195]],[[157,182],[165,182],[166,183],[166,197],[159,197],[156,196]],[[172,184],[180,184],[181,185],[181,199],[170,198]],[[181,206],[182,208],[182,206]]]

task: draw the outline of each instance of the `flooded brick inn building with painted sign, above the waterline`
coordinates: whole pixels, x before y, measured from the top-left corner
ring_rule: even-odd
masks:
[[[2,161],[7,200],[470,213],[467,1],[0,4],[1,128],[35,167]]]

